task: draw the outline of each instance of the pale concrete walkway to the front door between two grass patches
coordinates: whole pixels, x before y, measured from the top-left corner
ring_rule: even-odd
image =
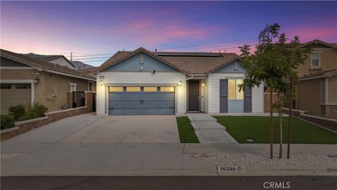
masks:
[[[211,115],[192,113],[187,114],[187,117],[190,119],[200,143],[237,144],[237,141],[226,132],[226,128],[218,124]]]

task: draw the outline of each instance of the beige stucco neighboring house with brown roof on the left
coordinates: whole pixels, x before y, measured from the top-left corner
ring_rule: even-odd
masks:
[[[39,102],[49,111],[60,110],[67,103],[67,91],[96,89],[95,77],[74,70],[68,63],[50,63],[3,49],[0,53],[1,114],[19,103],[30,106]]]

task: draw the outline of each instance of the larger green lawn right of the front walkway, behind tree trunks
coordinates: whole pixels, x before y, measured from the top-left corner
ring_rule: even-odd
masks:
[[[269,143],[269,117],[264,116],[213,116],[226,127],[227,132],[239,143]],[[279,143],[279,118],[274,117],[274,143]],[[298,118],[291,120],[291,143],[337,144],[337,134]],[[288,133],[288,118],[283,118],[283,141]],[[248,142],[246,139],[253,139]]]

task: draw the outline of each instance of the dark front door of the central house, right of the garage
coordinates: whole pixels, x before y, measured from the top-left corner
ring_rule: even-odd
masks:
[[[188,110],[199,111],[199,80],[188,82]]]

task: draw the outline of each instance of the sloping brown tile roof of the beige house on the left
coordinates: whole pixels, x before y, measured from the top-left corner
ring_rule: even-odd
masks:
[[[41,70],[45,70],[46,72],[54,71],[58,72],[58,74],[60,75],[72,75],[74,77],[85,78],[87,80],[95,80],[94,76],[88,75],[85,72],[79,72],[77,70],[73,70],[71,68],[67,68],[58,64],[41,61],[39,59],[31,58],[29,56],[24,56],[20,53],[14,53],[12,51],[0,49],[0,54],[1,57],[29,65],[34,68],[40,68]]]

